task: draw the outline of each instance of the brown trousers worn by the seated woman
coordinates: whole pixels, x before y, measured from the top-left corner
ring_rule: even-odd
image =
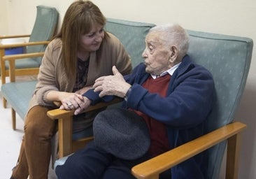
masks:
[[[15,179],[47,179],[51,156],[51,138],[56,132],[56,122],[47,116],[52,108],[34,106],[29,110],[24,124],[24,137]]]

